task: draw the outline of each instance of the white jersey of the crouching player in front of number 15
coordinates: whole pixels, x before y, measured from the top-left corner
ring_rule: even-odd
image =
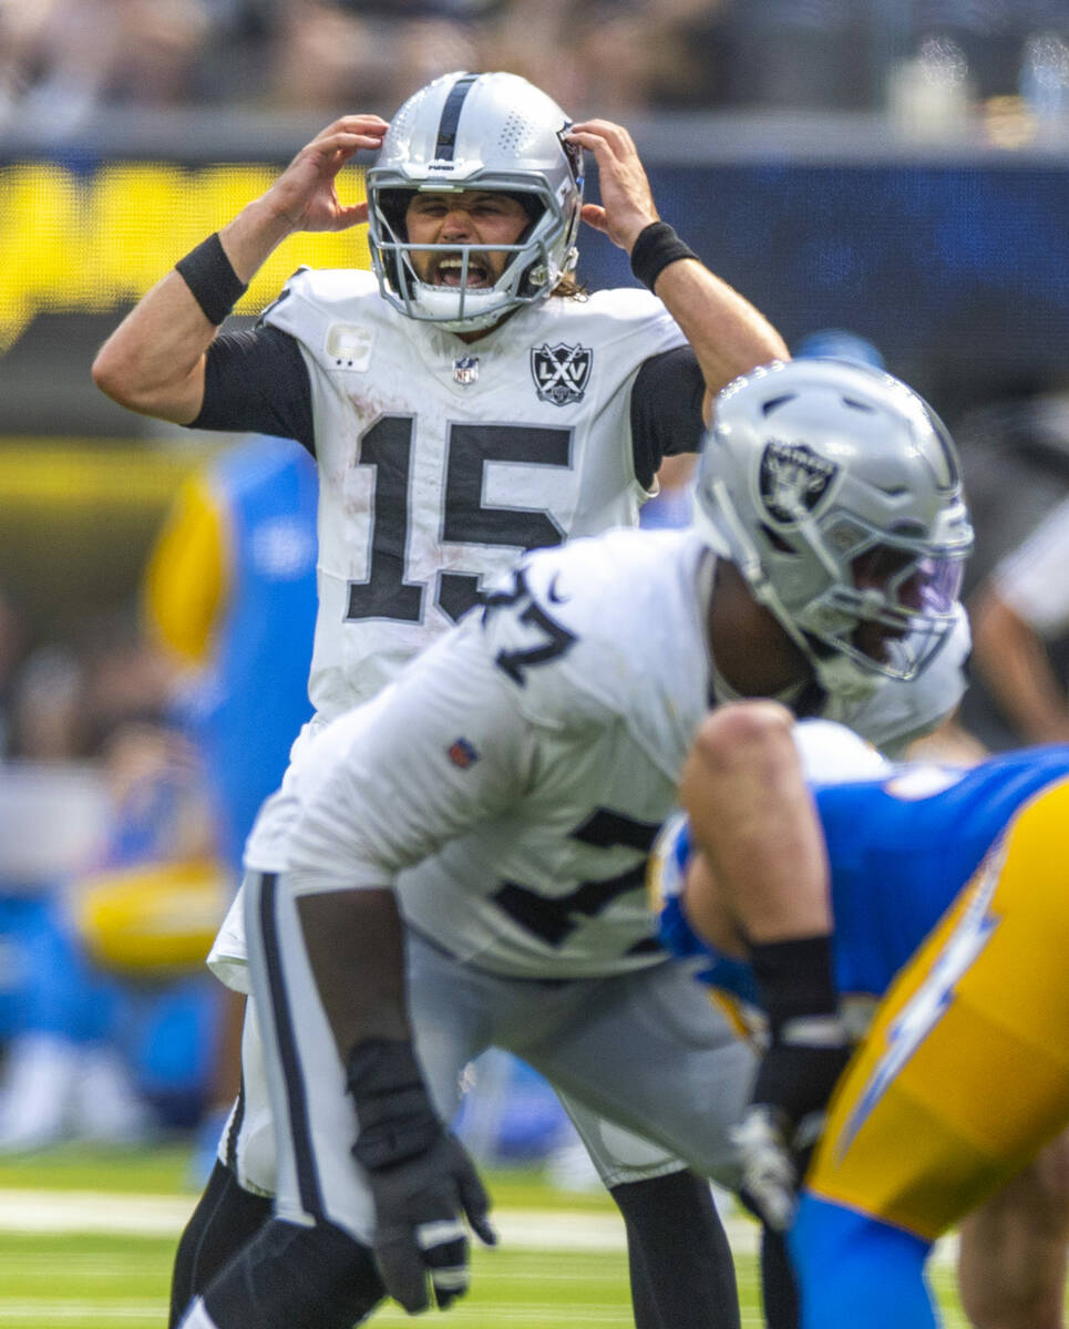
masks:
[[[710,706],[711,565],[685,532],[525,560],[327,728],[278,867],[299,890],[396,886],[411,926],[495,973],[655,962],[645,861]]]

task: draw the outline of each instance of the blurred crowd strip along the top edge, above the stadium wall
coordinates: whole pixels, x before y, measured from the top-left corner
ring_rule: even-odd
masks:
[[[892,66],[1013,96],[1069,78],[1060,0],[3,0],[0,126],[100,106],[396,108],[511,69],[580,114],[882,106]],[[908,74],[908,70],[907,70]],[[1034,89],[1033,89],[1034,90]]]

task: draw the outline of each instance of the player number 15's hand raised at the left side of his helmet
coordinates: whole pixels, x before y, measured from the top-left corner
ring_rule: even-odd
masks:
[[[382,146],[390,125],[380,116],[343,116],[306,144],[262,202],[291,231],[342,231],[367,221],[367,203],[344,205],[335,178],[362,149]]]

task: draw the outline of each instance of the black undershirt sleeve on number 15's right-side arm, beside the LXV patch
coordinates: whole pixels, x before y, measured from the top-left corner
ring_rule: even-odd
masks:
[[[689,346],[644,361],[632,387],[634,473],[649,489],[665,457],[698,452],[705,421],[705,380]]]

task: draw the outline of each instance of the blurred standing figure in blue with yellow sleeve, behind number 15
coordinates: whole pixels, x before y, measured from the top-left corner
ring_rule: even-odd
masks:
[[[177,670],[178,718],[202,754],[235,885],[312,714],[318,497],[300,444],[251,435],[185,481],[145,574],[148,627]]]

